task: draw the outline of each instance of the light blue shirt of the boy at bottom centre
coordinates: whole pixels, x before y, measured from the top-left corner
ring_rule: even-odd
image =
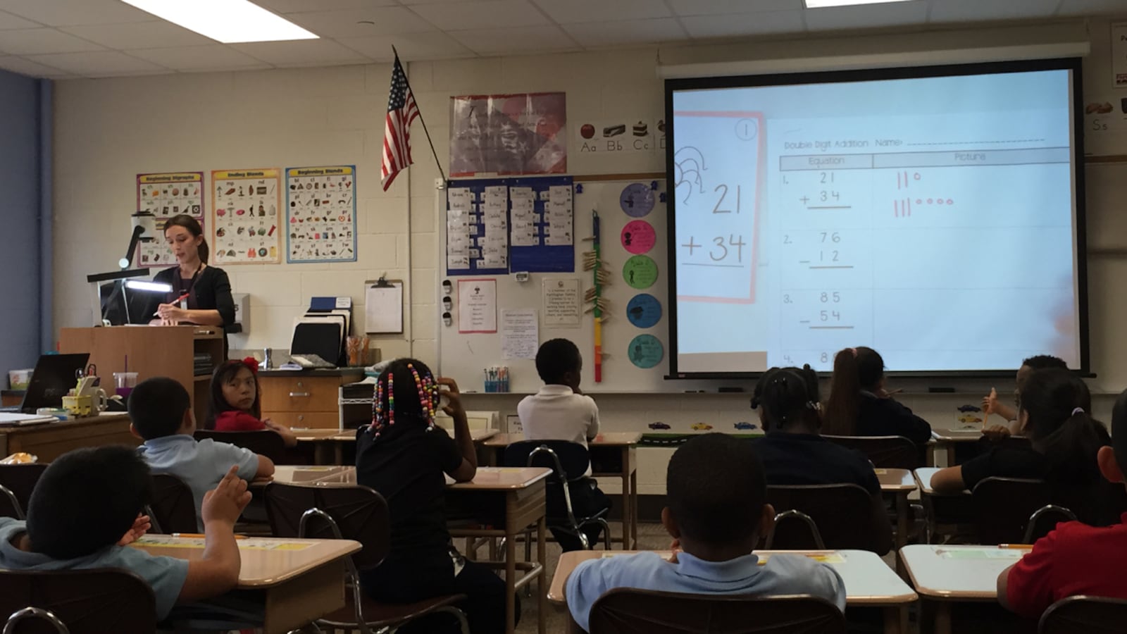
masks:
[[[701,595],[813,595],[845,611],[845,583],[837,571],[802,555],[771,555],[764,565],[744,555],[706,562],[677,553],[671,564],[657,553],[588,560],[576,566],[565,588],[568,609],[585,631],[591,607],[613,588],[638,588]]]

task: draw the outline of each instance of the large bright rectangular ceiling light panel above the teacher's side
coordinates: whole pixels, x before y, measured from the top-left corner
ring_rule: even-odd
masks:
[[[224,44],[317,39],[313,33],[248,0],[122,0]]]

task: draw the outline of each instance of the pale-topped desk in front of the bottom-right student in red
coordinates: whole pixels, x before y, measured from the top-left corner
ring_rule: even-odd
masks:
[[[900,558],[916,592],[935,606],[935,634],[951,634],[951,604],[997,600],[997,575],[1026,549],[913,544]]]

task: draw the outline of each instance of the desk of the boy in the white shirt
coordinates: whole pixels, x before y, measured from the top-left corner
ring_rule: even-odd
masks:
[[[499,433],[485,441],[489,454],[489,464],[500,463],[505,448],[524,440],[524,434]],[[592,476],[622,478],[622,538],[623,549],[638,547],[638,442],[641,432],[606,432],[601,433],[587,443],[591,452]],[[594,470],[600,465],[619,470]]]

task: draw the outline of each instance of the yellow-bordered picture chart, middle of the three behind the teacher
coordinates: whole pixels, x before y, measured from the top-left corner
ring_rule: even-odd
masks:
[[[282,170],[212,171],[215,264],[278,264]]]

